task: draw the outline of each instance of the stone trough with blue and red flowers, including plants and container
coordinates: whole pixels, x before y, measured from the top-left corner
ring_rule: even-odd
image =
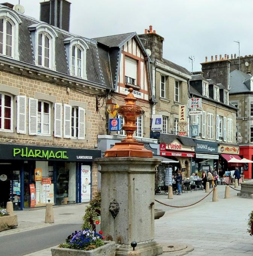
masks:
[[[64,244],[51,248],[52,256],[114,256],[115,242],[104,241],[102,234],[90,229],[75,231]]]

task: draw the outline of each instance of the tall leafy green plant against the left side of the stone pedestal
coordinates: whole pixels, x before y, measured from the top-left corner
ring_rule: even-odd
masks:
[[[83,229],[95,230],[95,222],[100,219],[101,194],[98,191],[85,209],[83,216]]]

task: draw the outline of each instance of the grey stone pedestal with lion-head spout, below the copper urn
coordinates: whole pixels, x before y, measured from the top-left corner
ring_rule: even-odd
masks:
[[[101,230],[116,242],[116,256],[132,251],[141,256],[162,254],[154,241],[156,158],[105,157],[101,165]]]

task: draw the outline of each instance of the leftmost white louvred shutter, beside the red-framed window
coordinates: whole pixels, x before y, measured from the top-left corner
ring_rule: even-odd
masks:
[[[26,134],[26,96],[17,96],[17,133]]]

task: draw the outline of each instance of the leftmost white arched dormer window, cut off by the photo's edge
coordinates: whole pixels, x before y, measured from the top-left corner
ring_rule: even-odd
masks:
[[[0,8],[0,54],[19,59],[18,25],[22,22],[12,9]]]

